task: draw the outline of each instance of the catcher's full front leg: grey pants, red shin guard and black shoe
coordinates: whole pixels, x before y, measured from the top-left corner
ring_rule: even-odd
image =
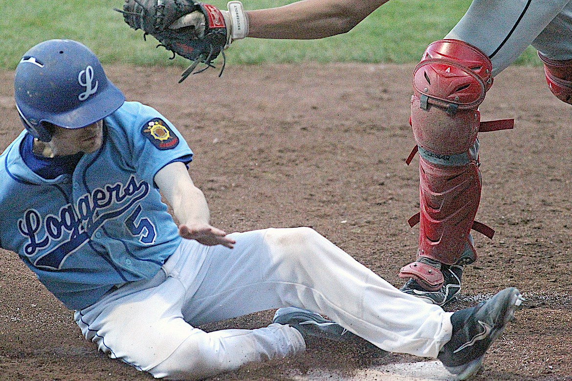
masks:
[[[419,147],[420,234],[402,290],[443,305],[476,259],[470,235],[480,202],[478,106],[492,77],[526,49],[569,0],[472,2],[414,73],[411,123]]]

